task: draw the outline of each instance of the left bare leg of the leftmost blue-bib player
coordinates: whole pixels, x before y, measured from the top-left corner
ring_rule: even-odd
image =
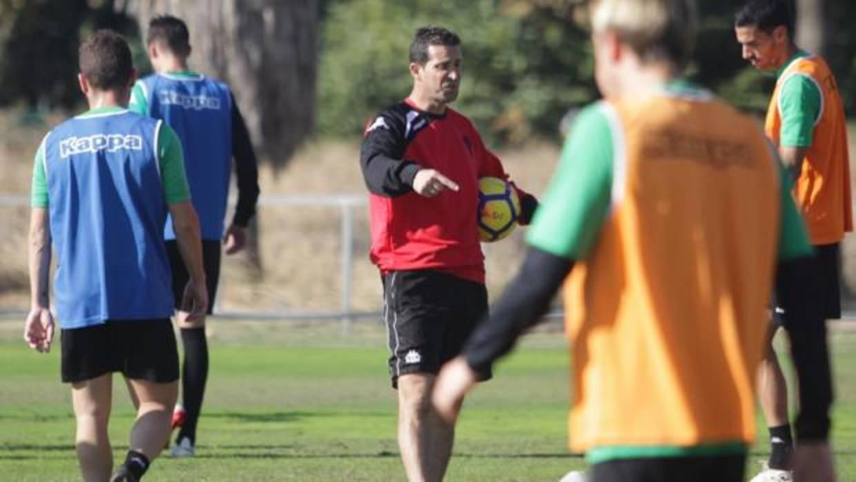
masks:
[[[71,384],[71,400],[77,420],[74,443],[85,482],[104,482],[110,479],[110,471],[113,470],[113,452],[107,434],[112,395],[113,377],[110,373]]]

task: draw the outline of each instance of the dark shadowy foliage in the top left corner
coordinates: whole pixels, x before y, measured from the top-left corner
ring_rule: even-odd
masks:
[[[0,0],[0,105],[28,110],[78,107],[77,47],[98,28],[128,38],[134,62],[145,51],[134,21],[115,13],[113,0]],[[140,57],[141,55],[141,57]]]

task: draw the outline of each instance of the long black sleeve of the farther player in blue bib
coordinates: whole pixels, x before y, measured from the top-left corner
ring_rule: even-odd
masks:
[[[259,201],[259,164],[247,124],[241,116],[235,97],[232,98],[232,157],[235,158],[235,181],[238,185],[238,204],[232,223],[246,228],[256,213]]]

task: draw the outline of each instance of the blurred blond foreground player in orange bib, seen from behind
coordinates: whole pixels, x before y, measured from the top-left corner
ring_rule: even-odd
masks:
[[[762,316],[774,273],[780,292],[808,290],[808,235],[760,126],[681,80],[695,3],[589,8],[604,100],[577,116],[520,273],[443,367],[434,407],[455,420],[476,373],[564,284],[570,448],[593,482],[741,482]],[[828,482],[831,378],[813,296],[783,297],[785,326],[800,378],[798,467]]]

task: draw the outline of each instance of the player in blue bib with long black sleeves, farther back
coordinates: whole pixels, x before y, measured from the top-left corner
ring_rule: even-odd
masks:
[[[181,140],[190,193],[202,227],[208,294],[213,300],[220,274],[221,245],[225,242],[227,254],[240,251],[246,243],[247,223],[255,213],[259,199],[256,156],[229,86],[187,68],[191,49],[184,22],[169,15],[155,17],[149,23],[146,44],[155,74],[134,85],[130,109],[163,120],[175,129]],[[227,228],[223,225],[223,218],[226,215],[232,158],[235,158],[238,204],[235,217]],[[187,280],[187,271],[181,263],[170,223],[166,223],[165,237],[172,265],[175,307],[179,308],[181,286]],[[211,306],[208,313],[211,313]],[[187,320],[186,315],[179,311],[176,323],[181,328],[184,345],[181,371],[184,407],[175,408],[173,425],[181,425],[181,430],[171,454],[192,456],[208,377],[205,317]]]

